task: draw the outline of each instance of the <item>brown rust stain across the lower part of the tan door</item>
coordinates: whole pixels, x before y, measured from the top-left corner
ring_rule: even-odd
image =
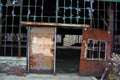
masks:
[[[35,54],[32,55],[32,57],[34,57],[30,60],[32,69],[53,69],[53,57],[44,56],[42,54]]]

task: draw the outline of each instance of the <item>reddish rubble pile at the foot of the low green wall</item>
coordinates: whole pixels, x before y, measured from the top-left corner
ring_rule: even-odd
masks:
[[[24,72],[22,72],[22,68],[14,66],[11,67],[10,70],[7,72],[7,75],[17,75],[17,76],[26,76]]]

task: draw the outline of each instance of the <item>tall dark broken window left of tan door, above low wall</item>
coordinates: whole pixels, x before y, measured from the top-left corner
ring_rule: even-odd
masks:
[[[25,57],[27,29],[20,26],[22,0],[1,0],[0,56]]]

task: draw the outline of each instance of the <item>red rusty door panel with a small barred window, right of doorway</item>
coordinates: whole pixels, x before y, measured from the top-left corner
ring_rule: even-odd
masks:
[[[94,40],[98,41],[99,44],[105,42],[105,50],[103,50],[103,53],[105,54],[103,56],[102,53],[102,47],[99,47],[99,58],[95,56],[98,54],[98,52],[91,52],[91,55],[93,53],[95,54],[95,57],[90,57],[88,58],[87,54],[89,53],[90,50],[88,50],[88,40]],[[110,60],[110,53],[111,53],[111,38],[110,38],[110,33],[107,31],[103,30],[86,30],[83,32],[83,41],[82,41],[82,49],[81,49],[81,58],[80,58],[80,75],[98,75],[100,72],[102,73],[103,70],[109,66],[109,60]],[[94,48],[95,50],[95,48]],[[88,52],[87,52],[88,51]],[[97,58],[98,59],[97,59]],[[103,58],[103,59],[102,59]]]

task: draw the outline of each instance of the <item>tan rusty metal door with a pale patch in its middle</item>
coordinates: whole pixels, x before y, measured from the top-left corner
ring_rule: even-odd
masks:
[[[30,71],[51,73],[54,69],[54,28],[30,30]]]

